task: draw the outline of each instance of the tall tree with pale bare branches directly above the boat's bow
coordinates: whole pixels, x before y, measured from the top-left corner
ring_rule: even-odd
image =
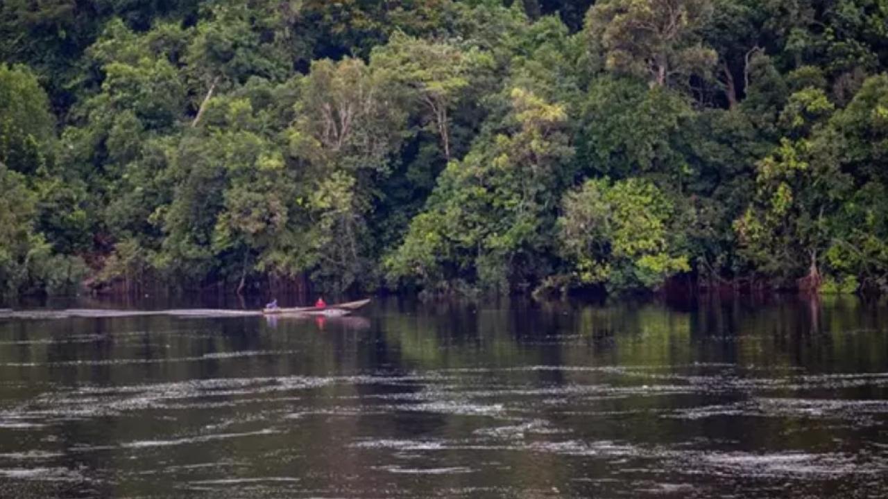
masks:
[[[349,288],[372,267],[367,220],[405,120],[399,95],[361,59],[317,61],[303,81],[289,153],[313,188],[305,196],[310,270],[335,289]]]

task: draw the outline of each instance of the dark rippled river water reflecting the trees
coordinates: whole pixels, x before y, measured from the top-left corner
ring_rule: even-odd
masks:
[[[888,307],[0,312],[0,497],[888,497]]]

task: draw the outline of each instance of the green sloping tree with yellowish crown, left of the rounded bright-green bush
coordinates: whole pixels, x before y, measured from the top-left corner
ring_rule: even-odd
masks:
[[[390,280],[446,288],[443,281],[467,277],[481,288],[509,289],[542,277],[534,273],[551,252],[553,194],[573,154],[567,114],[524,89],[509,96],[504,130],[441,173],[425,210],[386,259]]]

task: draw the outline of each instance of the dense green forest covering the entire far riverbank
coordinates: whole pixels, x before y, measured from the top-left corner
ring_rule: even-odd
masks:
[[[0,293],[888,289],[886,0],[4,0]]]

